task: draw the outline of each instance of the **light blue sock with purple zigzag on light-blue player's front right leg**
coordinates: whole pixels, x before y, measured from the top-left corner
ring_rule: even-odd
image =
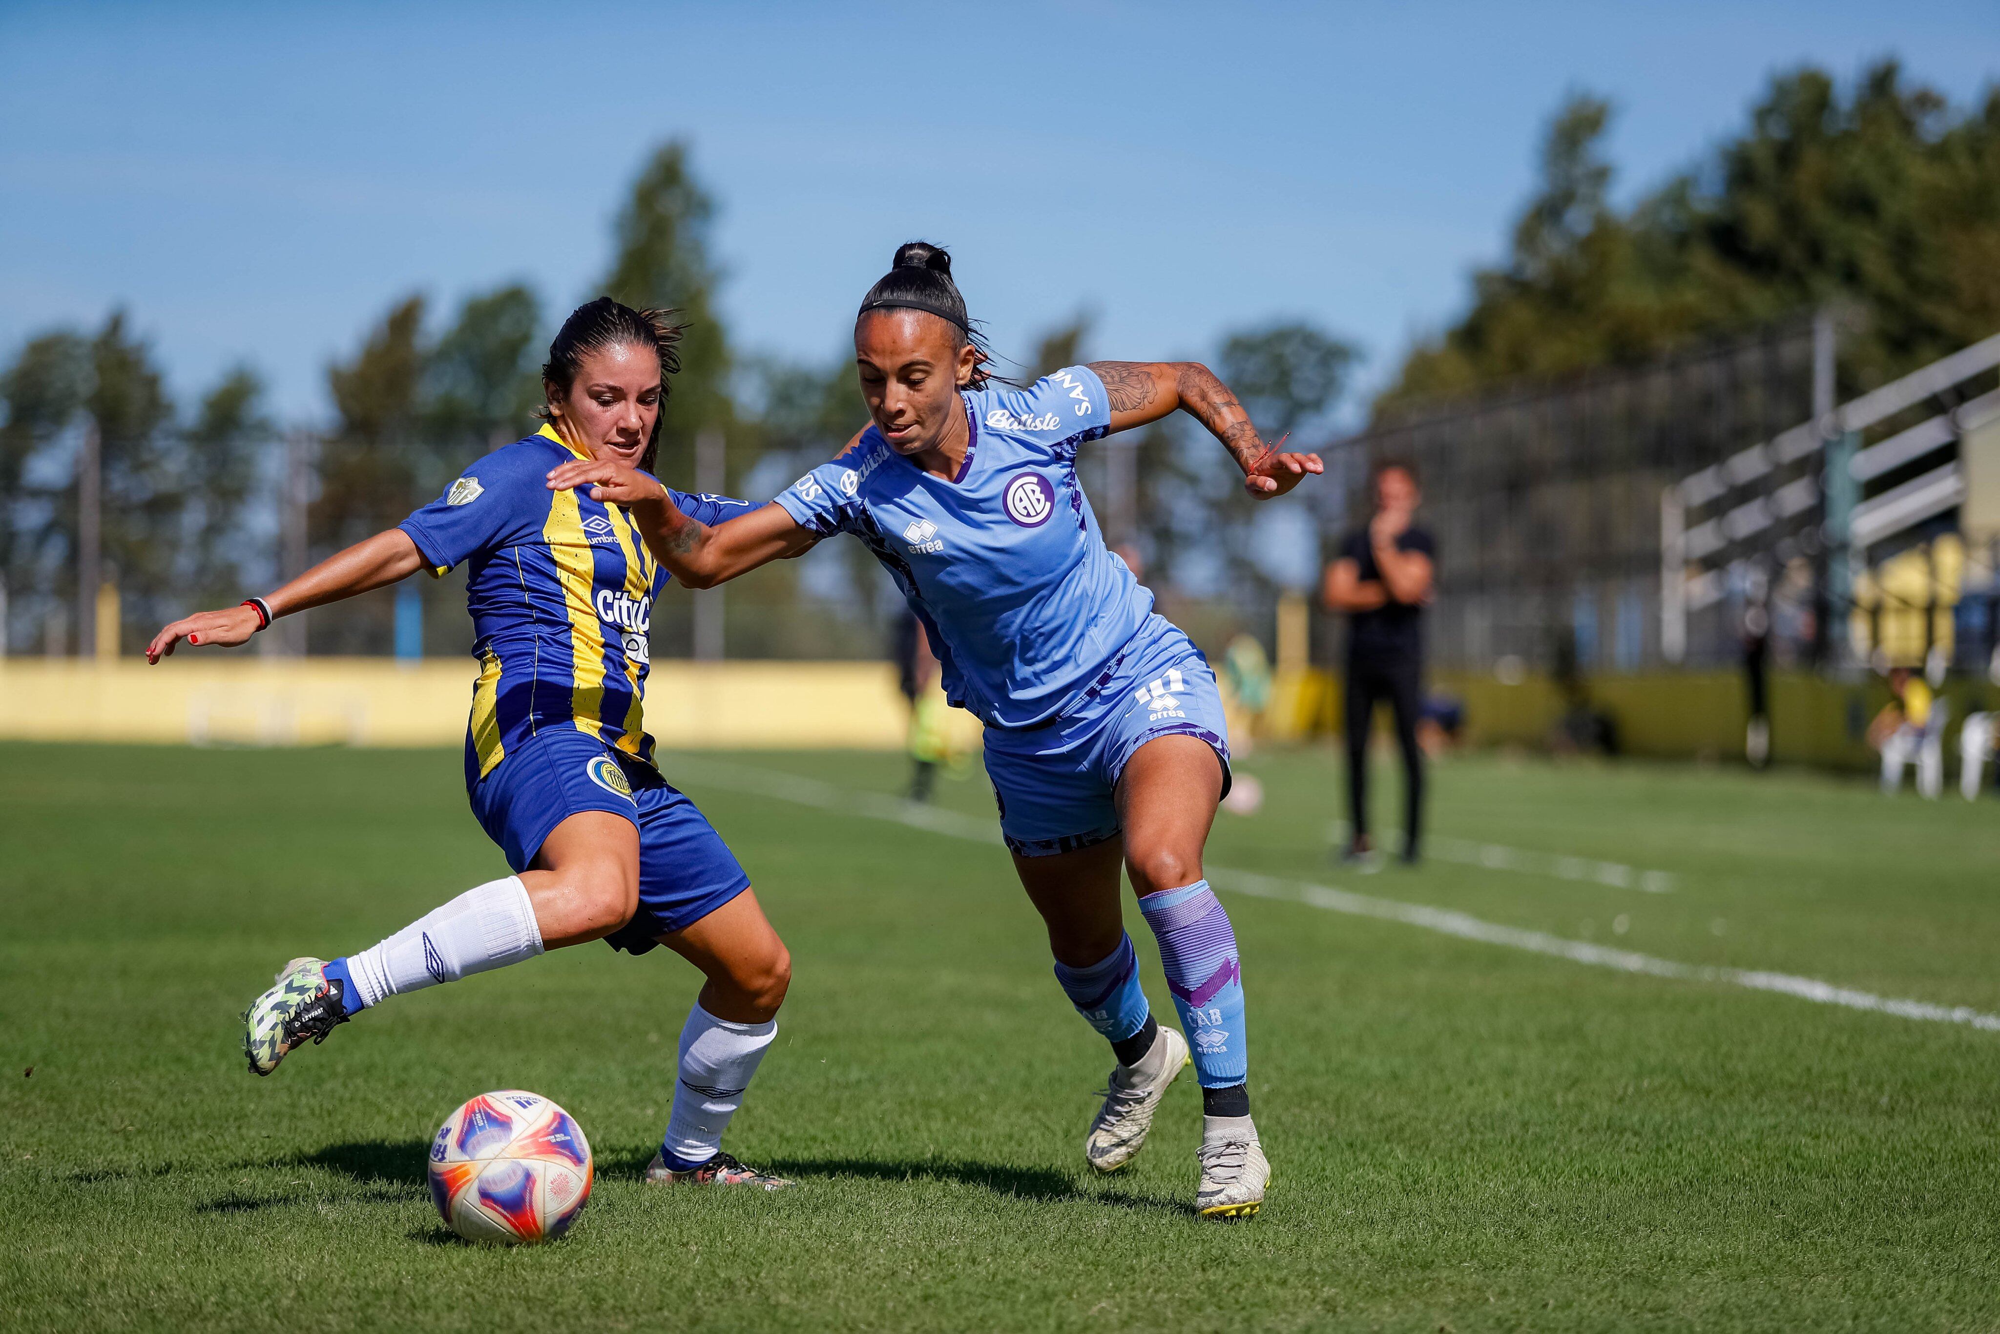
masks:
[[[1244,1046],[1244,984],[1236,930],[1206,880],[1138,900],[1160,942],[1166,990],[1174,992],[1180,1030],[1188,1034],[1202,1088],[1242,1084],[1250,1072]]]

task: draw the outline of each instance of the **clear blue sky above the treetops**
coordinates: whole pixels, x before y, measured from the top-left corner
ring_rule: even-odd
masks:
[[[1304,316],[1382,376],[1464,302],[1564,92],[1620,190],[1766,76],[1878,54],[1972,102],[1990,4],[268,6],[0,2],[0,354],[130,308],[180,394],[276,408],[398,296],[594,294],[648,148],[722,204],[740,346],[834,356],[896,242],[952,246],[1002,352],[1198,356]]]

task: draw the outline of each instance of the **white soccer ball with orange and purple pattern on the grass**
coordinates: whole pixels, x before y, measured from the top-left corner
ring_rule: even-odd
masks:
[[[590,1198],[590,1142],[548,1098],[480,1094],[430,1140],[430,1198],[468,1242],[558,1238]]]

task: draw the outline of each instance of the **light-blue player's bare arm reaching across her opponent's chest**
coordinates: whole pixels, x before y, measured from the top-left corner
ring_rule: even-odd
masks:
[[[620,462],[574,460],[548,474],[548,490],[582,486],[592,500],[624,506],[646,550],[688,588],[714,588],[772,560],[798,556],[818,540],[776,504],[702,524],[682,514],[656,478]]]

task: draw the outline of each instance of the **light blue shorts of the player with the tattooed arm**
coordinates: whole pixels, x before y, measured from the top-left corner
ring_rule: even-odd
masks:
[[[1112,790],[1132,752],[1156,736],[1208,742],[1228,794],[1230,742],[1216,674],[1164,616],[1132,636],[1072,714],[1040,728],[986,728],[986,776],[1006,846],[1052,856],[1116,838]]]

